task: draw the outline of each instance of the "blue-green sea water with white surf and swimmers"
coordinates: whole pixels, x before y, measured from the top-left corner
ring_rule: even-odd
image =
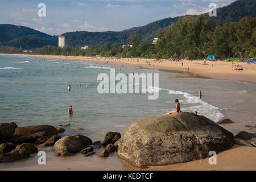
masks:
[[[137,72],[159,73],[157,100],[148,100],[148,94],[98,93],[97,76],[100,73],[110,75],[110,68],[115,68],[118,74],[120,67],[90,61],[0,56],[1,122],[55,127],[71,123],[64,134],[81,133],[93,140],[102,140],[108,131],[123,133],[139,119],[174,110],[176,98],[180,101],[181,111],[197,111],[215,122],[225,117],[223,108],[199,100],[195,86],[188,87],[186,82],[175,78],[179,73],[158,69],[129,65],[122,68],[122,74],[126,75],[132,72],[135,76]],[[86,83],[89,89],[86,89]],[[71,85],[71,92],[67,91],[68,85]],[[155,89],[154,85],[151,89]],[[68,115],[69,105],[73,107],[72,117]]]

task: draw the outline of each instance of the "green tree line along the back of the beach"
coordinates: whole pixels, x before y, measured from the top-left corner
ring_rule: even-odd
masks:
[[[160,29],[156,44],[142,43],[136,32],[129,37],[132,47],[121,47],[108,42],[100,47],[44,46],[32,49],[32,53],[40,55],[71,56],[117,56],[145,58],[188,58],[200,59],[216,54],[224,57],[256,56],[256,18],[247,16],[240,22],[225,23],[216,26],[216,20],[204,16],[184,16],[172,23],[165,30]],[[6,48],[0,47],[0,52]],[[11,48],[7,49],[10,53]],[[20,49],[14,49],[14,53]]]

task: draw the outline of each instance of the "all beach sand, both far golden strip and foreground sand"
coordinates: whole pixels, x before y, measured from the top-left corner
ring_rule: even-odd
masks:
[[[95,61],[101,63],[113,63],[120,65],[135,65],[143,68],[158,68],[161,71],[177,71],[178,73],[184,73],[184,68],[186,70],[187,75],[191,75],[195,78],[205,77],[205,78],[216,78],[218,80],[230,80],[230,81],[239,81],[239,82],[247,82],[251,84],[256,83],[256,64],[246,64],[246,63],[237,63],[243,67],[243,71],[234,71],[234,67],[232,67],[232,62],[224,62],[224,61],[207,61],[207,64],[203,64],[204,61],[192,60],[192,61],[168,61],[161,60],[156,61],[152,59],[111,59],[104,57],[81,57],[81,56],[51,56],[51,55],[23,55],[23,54],[0,54],[4,56],[24,56],[24,57],[43,57],[43,58],[51,58],[51,59],[62,59],[62,60],[81,60],[81,61]],[[181,64],[183,63],[183,65]],[[189,72],[187,72],[189,68]],[[209,90],[210,94],[216,92],[215,90]],[[217,94],[217,93],[216,93]],[[207,95],[208,96],[208,95]],[[229,96],[225,97],[226,100],[229,100]],[[243,100],[249,101],[250,98],[243,98]],[[214,105],[221,107],[221,105],[226,102],[223,100],[223,103],[214,102],[214,99],[211,101]],[[208,101],[207,101],[208,102]],[[232,103],[232,104],[230,104]],[[228,104],[227,104],[228,105]],[[241,103],[242,105],[242,103]],[[243,105],[246,105],[244,103]],[[249,123],[249,120],[255,122],[255,113],[253,114],[253,107],[255,103],[249,103],[248,107],[250,110],[248,111],[250,117],[246,121],[242,119],[245,118],[244,115],[236,115],[239,106],[236,103],[233,103],[233,100],[229,102],[229,107],[232,109],[227,109],[227,115],[230,119],[232,119],[235,123],[222,125],[225,129],[231,131],[234,135],[236,135],[239,131],[247,131],[249,133],[255,133],[255,128],[244,127],[245,125],[253,125],[254,123]],[[247,110],[243,108],[244,110]],[[247,115],[246,111],[245,114]],[[251,139],[251,141],[256,140],[256,138]],[[49,149],[50,150],[50,149]],[[255,147],[245,147],[234,145],[229,150],[220,152],[217,154],[217,165],[210,165],[208,163],[208,158],[202,160],[194,160],[187,163],[179,163],[172,164],[168,166],[154,166],[146,169],[139,169],[131,166],[131,164],[125,162],[122,159],[116,157],[115,154],[110,155],[109,158],[105,159],[104,162],[100,160],[97,156],[91,156],[89,160],[92,160],[94,166],[86,166],[83,161],[84,157],[81,154],[77,154],[72,157],[67,158],[56,158],[53,156],[54,152],[52,152],[51,158],[47,159],[47,165],[39,166],[36,164],[38,156],[32,155],[30,159],[22,160],[24,163],[23,166],[20,166],[20,163],[15,164],[14,166],[10,166],[10,164],[5,164],[3,168],[0,170],[256,170],[256,148]],[[60,165],[61,163],[61,165]]]

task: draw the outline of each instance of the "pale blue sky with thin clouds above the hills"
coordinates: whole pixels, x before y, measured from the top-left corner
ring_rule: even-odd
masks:
[[[122,31],[156,20],[207,13],[236,0],[0,0],[0,24],[34,28],[49,35],[73,31]],[[39,3],[46,16],[39,16]],[[0,32],[1,33],[1,32]]]

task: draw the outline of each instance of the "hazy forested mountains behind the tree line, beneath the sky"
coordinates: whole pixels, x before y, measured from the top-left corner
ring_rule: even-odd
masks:
[[[238,0],[228,6],[217,9],[216,24],[223,26],[225,23],[238,22],[245,16],[256,16],[255,0]],[[208,13],[204,14],[209,16]],[[159,28],[166,30],[172,23],[177,22],[179,18],[165,18],[147,24],[146,26],[134,27],[123,31],[107,32],[88,32],[76,31],[63,34],[66,38],[66,44],[71,47],[75,46],[102,46],[104,43],[109,44],[129,44],[129,36],[132,32],[142,38],[142,43],[150,43],[158,34]],[[11,24],[0,24],[0,46],[22,47],[31,49],[43,47],[46,45],[57,46],[57,36],[51,36],[42,32],[33,30],[24,26],[14,26]]]

